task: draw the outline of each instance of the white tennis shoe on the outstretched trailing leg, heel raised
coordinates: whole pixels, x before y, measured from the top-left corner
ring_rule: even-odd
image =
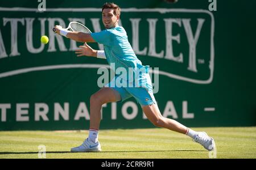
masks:
[[[214,139],[209,137],[207,133],[204,131],[199,132],[199,134],[193,139],[193,141],[200,143],[200,145],[203,145],[204,148],[206,148],[208,151],[212,151],[215,148],[215,142]]]

